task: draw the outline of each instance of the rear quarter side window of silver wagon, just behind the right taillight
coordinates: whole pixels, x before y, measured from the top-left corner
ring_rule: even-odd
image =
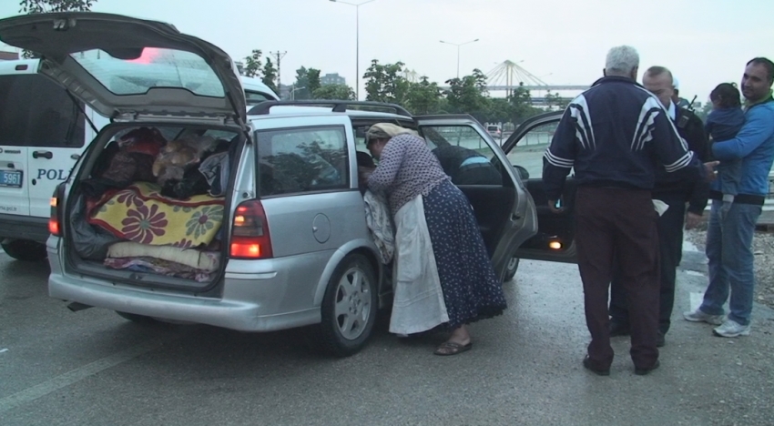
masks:
[[[256,132],[259,195],[349,189],[344,127],[305,127]]]

